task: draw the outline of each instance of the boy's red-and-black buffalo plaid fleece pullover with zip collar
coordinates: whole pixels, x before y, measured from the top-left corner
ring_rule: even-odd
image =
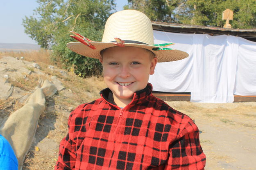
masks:
[[[202,170],[195,123],[152,95],[152,85],[121,109],[110,89],[68,119],[55,170]]]

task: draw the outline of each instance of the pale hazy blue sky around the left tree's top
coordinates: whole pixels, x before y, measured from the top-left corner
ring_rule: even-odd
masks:
[[[122,10],[127,0],[115,0],[116,10]],[[32,16],[36,9],[36,0],[0,0],[0,42],[4,43],[30,43],[34,40],[24,33],[22,19]]]

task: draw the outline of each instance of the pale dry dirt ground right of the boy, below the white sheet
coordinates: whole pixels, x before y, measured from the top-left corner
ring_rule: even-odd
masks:
[[[256,102],[167,102],[197,124],[206,170],[256,169]]]

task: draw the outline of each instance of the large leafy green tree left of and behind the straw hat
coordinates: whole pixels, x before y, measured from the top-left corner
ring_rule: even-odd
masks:
[[[34,15],[23,19],[25,33],[41,47],[52,49],[60,56],[66,67],[74,67],[79,76],[101,74],[102,67],[97,59],[82,57],[66,44],[74,30],[94,41],[101,41],[106,19],[115,9],[114,0],[37,0],[39,7]]]

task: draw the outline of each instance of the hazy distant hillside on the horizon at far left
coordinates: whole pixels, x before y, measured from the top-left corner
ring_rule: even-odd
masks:
[[[0,43],[0,49],[40,49],[40,45],[27,43]]]

